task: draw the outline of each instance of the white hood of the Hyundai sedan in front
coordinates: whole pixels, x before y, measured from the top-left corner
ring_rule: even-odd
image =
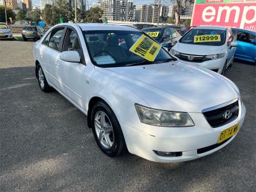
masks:
[[[177,61],[106,69],[151,108],[200,113],[239,97],[238,88],[227,78]]]

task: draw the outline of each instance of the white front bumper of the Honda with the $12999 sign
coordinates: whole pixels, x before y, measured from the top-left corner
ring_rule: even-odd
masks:
[[[175,56],[173,56],[173,57],[175,57]],[[223,70],[223,67],[225,65],[225,62],[227,60],[226,57],[223,57],[223,58],[218,59],[218,60],[209,60],[209,61],[203,61],[202,63],[196,63],[196,62],[183,61],[183,60],[180,60],[177,57],[175,57],[175,58],[178,61],[180,61],[181,63],[186,63],[188,65],[193,65],[193,66],[204,67],[204,68],[207,68],[209,70],[214,70],[215,72],[218,72],[219,74],[221,74],[221,72]]]

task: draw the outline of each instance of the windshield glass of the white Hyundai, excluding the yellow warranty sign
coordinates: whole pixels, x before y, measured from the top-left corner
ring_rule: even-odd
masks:
[[[141,31],[83,31],[83,34],[93,63],[100,67],[146,65],[173,60],[163,48],[151,62],[129,51],[143,35]]]

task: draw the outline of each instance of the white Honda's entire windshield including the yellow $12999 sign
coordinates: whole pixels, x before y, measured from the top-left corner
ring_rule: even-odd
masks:
[[[226,31],[219,29],[191,29],[179,40],[182,44],[213,45],[225,44]]]

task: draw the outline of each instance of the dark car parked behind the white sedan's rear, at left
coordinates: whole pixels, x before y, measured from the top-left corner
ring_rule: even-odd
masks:
[[[26,42],[28,39],[40,40],[44,35],[44,29],[40,26],[25,26],[22,29],[22,38]]]

